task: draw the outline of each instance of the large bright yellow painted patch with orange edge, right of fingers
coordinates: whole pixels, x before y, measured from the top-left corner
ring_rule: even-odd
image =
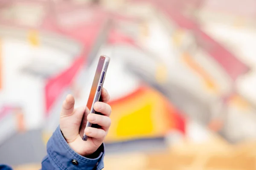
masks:
[[[164,136],[170,128],[164,98],[159,92],[146,90],[116,104],[111,104],[112,124],[106,142]]]

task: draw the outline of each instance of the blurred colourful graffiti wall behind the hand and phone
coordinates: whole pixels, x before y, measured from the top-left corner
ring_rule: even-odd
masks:
[[[105,170],[256,170],[255,0],[0,0],[0,163],[36,170],[101,54]]]

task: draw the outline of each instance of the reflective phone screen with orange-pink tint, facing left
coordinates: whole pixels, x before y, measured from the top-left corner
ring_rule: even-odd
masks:
[[[92,88],[90,91],[89,99],[87,101],[87,108],[89,110],[91,110],[92,105],[93,105],[93,99],[94,99],[94,96],[95,96],[97,88],[98,88],[98,83],[99,83],[100,75],[101,75],[101,72],[103,69],[104,61],[105,61],[105,57],[99,58],[98,66],[96,68],[96,73],[95,73],[95,76],[93,79],[93,85],[92,85]]]

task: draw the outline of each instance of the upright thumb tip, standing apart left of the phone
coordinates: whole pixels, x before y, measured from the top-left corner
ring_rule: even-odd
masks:
[[[75,99],[71,94],[68,94],[62,104],[61,115],[70,116],[74,111]]]

